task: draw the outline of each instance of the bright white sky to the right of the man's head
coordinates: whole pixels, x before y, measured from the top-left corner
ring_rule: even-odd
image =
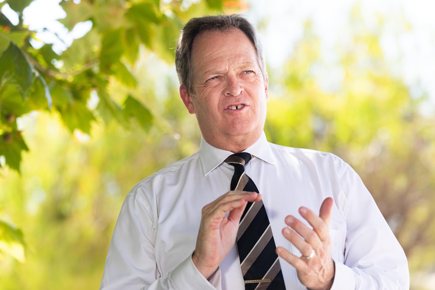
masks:
[[[267,17],[262,35],[270,69],[279,67],[292,53],[292,44],[303,32],[303,23],[311,19],[314,33],[321,39],[322,59],[333,64],[337,60],[334,47],[350,36],[347,27],[350,10],[356,0],[251,0],[249,17]],[[397,74],[418,91],[419,85],[435,104],[435,1],[434,0],[361,0],[361,14],[366,23],[376,25],[376,15],[385,17],[380,40],[387,61]],[[404,19],[409,23],[403,25]],[[412,30],[409,29],[412,27]],[[278,33],[277,33],[278,32]],[[333,74],[324,72],[324,79],[333,83]],[[336,80],[340,81],[340,80]],[[419,85],[418,85],[419,84]],[[418,92],[417,92],[418,93]],[[429,108],[430,109],[430,108]]]

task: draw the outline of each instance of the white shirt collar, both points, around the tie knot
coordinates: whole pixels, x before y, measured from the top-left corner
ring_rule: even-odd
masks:
[[[272,154],[270,149],[270,145],[267,142],[266,135],[264,132],[261,134],[260,138],[248,147],[243,152],[251,153],[253,156],[270,163],[272,165],[276,165],[275,157]],[[202,170],[204,172],[204,176],[207,176],[214,168],[221,165],[222,162],[227,159],[228,156],[232,155],[233,152],[222,150],[208,144],[204,138],[201,136],[201,145],[199,147],[199,159],[201,161]]]

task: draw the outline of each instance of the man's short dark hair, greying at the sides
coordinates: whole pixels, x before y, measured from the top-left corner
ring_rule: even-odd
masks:
[[[255,27],[249,21],[236,14],[192,18],[184,26],[175,50],[175,67],[178,78],[180,84],[186,86],[188,94],[193,95],[192,44],[195,37],[204,31],[227,32],[232,29],[240,29],[251,41],[255,47],[258,65],[260,66],[263,78],[266,78],[267,73],[263,48],[261,47]]]

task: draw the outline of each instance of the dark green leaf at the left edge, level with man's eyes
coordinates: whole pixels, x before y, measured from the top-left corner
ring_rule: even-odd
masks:
[[[21,88],[25,95],[33,80],[33,70],[20,48],[10,43],[0,57],[0,81],[9,78]]]

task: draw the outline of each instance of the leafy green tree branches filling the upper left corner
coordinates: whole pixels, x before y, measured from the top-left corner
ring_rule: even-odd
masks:
[[[147,132],[155,119],[147,104],[133,94],[115,99],[107,89],[111,82],[136,87],[131,68],[141,47],[172,63],[183,23],[243,5],[225,0],[62,1],[67,16],[60,22],[66,28],[71,31],[85,21],[91,21],[92,28],[57,54],[52,44],[39,48],[31,44],[35,32],[23,24],[23,11],[31,2],[0,3],[0,9],[8,4],[19,15],[19,23],[13,25],[0,14],[0,155],[16,170],[22,152],[29,150],[16,120],[33,110],[58,112],[71,132],[89,134],[91,123],[99,119],[125,127],[137,122]],[[95,108],[89,105],[91,93],[98,99]]]

